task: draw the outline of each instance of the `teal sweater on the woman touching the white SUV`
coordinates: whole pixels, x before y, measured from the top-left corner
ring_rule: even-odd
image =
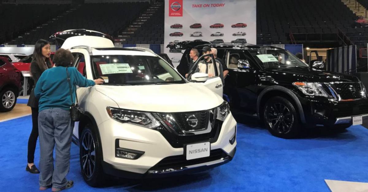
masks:
[[[88,80],[75,67],[68,67],[70,83],[75,102],[75,86],[94,86],[95,81]],[[71,105],[66,68],[62,66],[45,70],[37,81],[35,97],[39,99],[38,111],[50,108],[69,110]]]

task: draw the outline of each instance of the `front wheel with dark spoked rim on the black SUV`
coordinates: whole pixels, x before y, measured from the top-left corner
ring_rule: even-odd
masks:
[[[301,133],[302,126],[296,107],[285,98],[270,98],[263,106],[262,114],[268,131],[276,137],[289,139]]]

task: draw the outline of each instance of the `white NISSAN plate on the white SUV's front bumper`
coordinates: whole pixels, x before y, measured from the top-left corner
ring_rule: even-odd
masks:
[[[186,145],[187,160],[208,157],[211,150],[210,142]]]

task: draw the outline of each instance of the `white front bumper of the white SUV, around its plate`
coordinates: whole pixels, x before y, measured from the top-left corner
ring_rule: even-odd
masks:
[[[236,131],[236,121],[231,113],[222,123],[217,140],[211,143],[210,157],[194,161],[185,159],[184,146],[174,148],[159,131],[119,123],[113,119],[101,123],[98,128],[102,142],[103,170],[107,174],[126,178],[185,174],[210,169],[229,162],[237,144],[236,141],[233,144],[229,142]],[[116,147],[142,151],[144,154],[135,160],[122,159],[115,156]]]

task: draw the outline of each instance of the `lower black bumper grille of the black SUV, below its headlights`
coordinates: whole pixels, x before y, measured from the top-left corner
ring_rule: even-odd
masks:
[[[335,117],[363,115],[368,113],[368,104],[366,101],[364,103],[348,102],[337,104],[332,113]]]

